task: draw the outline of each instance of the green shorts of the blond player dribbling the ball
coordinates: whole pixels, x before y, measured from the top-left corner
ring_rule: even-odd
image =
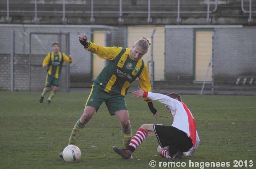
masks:
[[[115,115],[116,111],[128,110],[123,95],[110,94],[105,92],[101,86],[92,85],[92,90],[85,106],[92,106],[97,112],[102,102],[105,102],[111,116]]]

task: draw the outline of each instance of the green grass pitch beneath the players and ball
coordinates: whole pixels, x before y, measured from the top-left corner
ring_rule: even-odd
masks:
[[[149,136],[132,154],[134,159],[116,155],[112,146],[122,147],[121,126],[103,103],[77,142],[82,152],[80,162],[67,163],[59,153],[84,111],[88,93],[58,92],[50,105],[46,103],[49,93],[42,104],[40,94],[0,91],[0,168],[152,168],[152,160],[156,162],[154,168],[168,164],[174,168],[256,166],[255,96],[181,95],[196,120],[200,145],[193,157],[183,156],[178,161],[159,157],[158,141]],[[153,104],[158,120],[142,99],[134,100],[127,94],[126,102],[132,135],[143,123],[172,124],[171,114],[157,101]]]

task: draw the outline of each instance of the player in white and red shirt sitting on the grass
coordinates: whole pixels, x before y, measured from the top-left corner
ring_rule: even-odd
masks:
[[[140,90],[132,92],[132,97],[148,97],[157,100],[163,104],[172,113],[173,123],[171,126],[162,124],[143,124],[125,149],[119,149],[113,146],[116,154],[124,159],[131,157],[133,151],[144,141],[145,137],[156,137],[160,146],[157,152],[160,156],[172,159],[181,159],[183,153],[185,155],[193,155],[199,145],[199,137],[196,131],[195,119],[188,107],[181,101],[178,93],[169,93],[163,95]],[[189,152],[187,152],[189,151]]]

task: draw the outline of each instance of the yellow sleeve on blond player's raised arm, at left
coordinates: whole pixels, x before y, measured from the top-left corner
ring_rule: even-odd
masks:
[[[92,42],[88,43],[89,45],[84,47],[84,49],[97,54],[102,59],[113,60],[123,49],[122,47],[104,47]]]

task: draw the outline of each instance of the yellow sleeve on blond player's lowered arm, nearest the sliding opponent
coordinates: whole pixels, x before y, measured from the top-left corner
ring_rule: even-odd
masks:
[[[151,92],[151,83],[150,83],[150,78],[148,74],[148,68],[145,63],[144,63],[144,68],[139,76],[139,84],[140,84],[140,88],[142,88],[144,91]],[[146,97],[143,97],[143,100],[147,102],[152,102],[152,100]]]

